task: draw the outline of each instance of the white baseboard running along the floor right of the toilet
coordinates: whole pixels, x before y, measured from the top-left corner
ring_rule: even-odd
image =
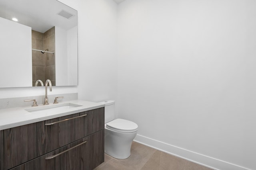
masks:
[[[136,135],[134,141],[214,170],[250,170],[236,164],[225,162],[223,160],[212,158],[200,153],[192,152],[190,150],[182,149],[180,147],[150,139],[142,135]]]

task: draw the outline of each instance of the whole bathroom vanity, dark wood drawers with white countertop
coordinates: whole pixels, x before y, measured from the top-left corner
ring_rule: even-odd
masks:
[[[92,170],[104,162],[104,105],[71,103],[0,110],[0,170]]]

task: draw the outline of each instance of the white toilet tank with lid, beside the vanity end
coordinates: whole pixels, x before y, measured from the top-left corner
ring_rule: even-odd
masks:
[[[100,104],[105,104],[105,123],[115,119],[115,101],[107,100],[100,102]]]

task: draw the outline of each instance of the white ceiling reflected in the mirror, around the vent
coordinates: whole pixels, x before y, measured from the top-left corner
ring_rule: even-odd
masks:
[[[73,14],[69,19],[58,15],[62,10]],[[0,0],[0,17],[32,27],[44,33],[53,26],[68,30],[77,25],[77,11],[57,0]]]

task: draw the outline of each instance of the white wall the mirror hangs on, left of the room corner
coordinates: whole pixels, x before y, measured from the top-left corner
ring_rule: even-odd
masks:
[[[78,10],[78,86],[53,87],[48,94],[78,92],[81,100],[116,100],[117,4],[112,0],[60,0]],[[0,98],[44,95],[44,88],[0,88]],[[23,101],[21,101],[23,102]]]

